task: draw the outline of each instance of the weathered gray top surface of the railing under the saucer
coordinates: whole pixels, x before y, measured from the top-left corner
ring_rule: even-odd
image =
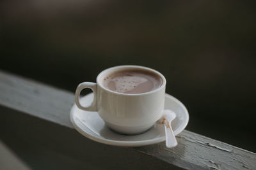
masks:
[[[74,94],[70,92],[0,72],[0,104],[4,107],[73,129],[69,121],[73,103]],[[172,149],[158,143],[118,150],[140,153],[185,169],[256,169],[255,153],[189,131],[183,131],[177,140],[179,145]],[[117,148],[86,141],[104,150]]]

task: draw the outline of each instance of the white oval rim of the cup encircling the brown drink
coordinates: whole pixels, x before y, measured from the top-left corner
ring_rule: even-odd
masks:
[[[121,69],[121,68],[138,68],[138,69],[145,69],[147,71],[152,71],[152,72],[156,73],[158,76],[161,77],[161,79],[163,80],[163,83],[162,83],[162,85],[160,87],[158,87],[155,90],[152,90],[152,91],[149,91],[149,92],[145,92],[145,93],[139,93],[139,94],[124,94],[124,93],[120,93],[120,92],[114,92],[112,90],[107,89],[106,87],[104,87],[100,83],[101,76],[103,76],[104,74],[110,72],[111,70]],[[144,96],[144,95],[148,95],[148,94],[152,94],[152,93],[158,92],[158,91],[162,90],[165,87],[165,85],[166,85],[166,79],[164,78],[163,74],[161,74],[159,71],[156,71],[155,69],[151,69],[149,67],[137,66],[137,65],[122,65],[122,66],[114,66],[114,67],[109,67],[108,69],[104,69],[103,71],[101,71],[98,74],[96,82],[97,82],[97,85],[99,85],[102,89],[104,89],[104,90],[106,90],[108,92],[111,92],[112,94],[119,95],[119,96]]]

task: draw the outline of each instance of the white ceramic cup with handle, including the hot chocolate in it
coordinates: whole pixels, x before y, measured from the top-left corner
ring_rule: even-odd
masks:
[[[161,118],[165,87],[163,74],[154,69],[116,66],[102,71],[97,76],[97,83],[80,83],[76,90],[76,104],[81,110],[97,111],[113,131],[140,134]],[[79,101],[81,90],[86,88],[92,89],[94,95],[88,107]]]

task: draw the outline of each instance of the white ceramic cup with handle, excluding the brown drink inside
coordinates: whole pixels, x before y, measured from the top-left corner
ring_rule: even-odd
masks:
[[[141,94],[123,94],[114,92],[102,84],[111,73],[127,69],[141,69],[156,73],[163,81],[162,85],[150,92]],[[106,125],[122,134],[140,134],[152,127],[164,110],[166,80],[163,74],[143,66],[116,66],[105,69],[97,76],[97,83],[80,83],[76,89],[76,104],[81,110],[97,111]],[[90,106],[82,106],[79,101],[83,89],[92,89],[93,101]],[[97,113],[95,113],[97,114]]]

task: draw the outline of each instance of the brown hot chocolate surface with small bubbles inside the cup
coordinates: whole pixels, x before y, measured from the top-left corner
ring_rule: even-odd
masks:
[[[109,74],[103,86],[114,92],[140,94],[157,89],[162,84],[161,77],[149,71],[131,69]]]

